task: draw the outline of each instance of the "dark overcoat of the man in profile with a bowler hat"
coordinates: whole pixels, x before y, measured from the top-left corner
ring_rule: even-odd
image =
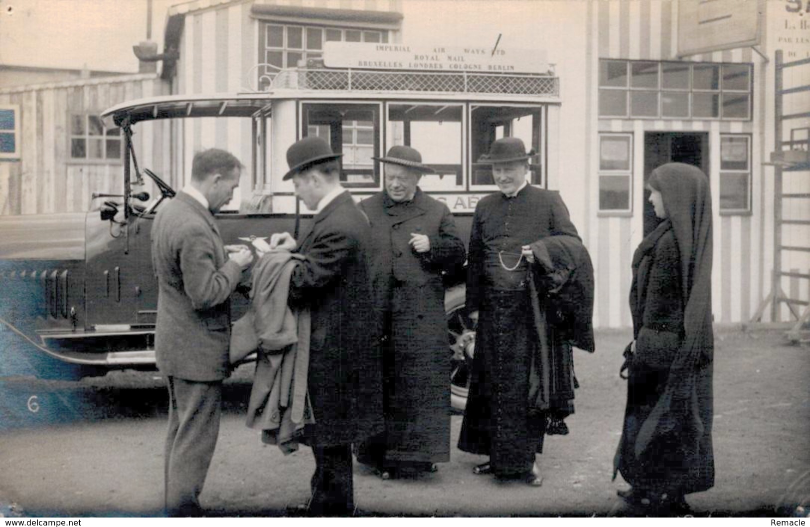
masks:
[[[369,277],[369,223],[343,192],[313,218],[296,252],[288,303],[308,306],[313,446],[354,443],[382,431],[382,362]]]

